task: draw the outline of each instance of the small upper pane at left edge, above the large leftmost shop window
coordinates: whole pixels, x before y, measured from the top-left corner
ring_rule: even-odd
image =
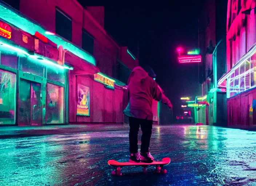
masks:
[[[0,51],[0,65],[9,66],[11,68],[17,68],[17,53]]]

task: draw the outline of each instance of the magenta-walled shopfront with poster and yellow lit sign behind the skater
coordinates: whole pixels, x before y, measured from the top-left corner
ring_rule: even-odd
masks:
[[[69,122],[123,123],[125,84],[100,73],[86,61],[75,63],[69,56],[72,54],[65,54],[65,62],[74,67],[69,73],[69,100],[73,100],[69,102]]]

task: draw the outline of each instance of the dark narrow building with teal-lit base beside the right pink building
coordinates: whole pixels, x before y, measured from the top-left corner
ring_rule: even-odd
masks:
[[[226,90],[218,89],[217,80],[226,72],[227,1],[207,0],[200,16],[200,49],[203,59],[202,96],[205,102],[197,109],[197,122],[225,126],[227,121]]]

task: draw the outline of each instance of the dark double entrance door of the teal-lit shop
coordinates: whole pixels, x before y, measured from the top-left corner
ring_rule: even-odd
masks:
[[[41,84],[20,79],[19,125],[42,125]]]

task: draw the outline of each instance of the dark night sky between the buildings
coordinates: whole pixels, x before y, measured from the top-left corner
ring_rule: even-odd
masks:
[[[78,0],[79,1],[79,0]],[[181,114],[181,96],[200,96],[197,64],[178,64],[177,47],[198,47],[198,11],[202,0],[83,1],[83,6],[105,7],[105,29],[121,45],[137,54],[141,66],[149,65],[156,81]],[[175,116],[175,115],[174,115]]]

